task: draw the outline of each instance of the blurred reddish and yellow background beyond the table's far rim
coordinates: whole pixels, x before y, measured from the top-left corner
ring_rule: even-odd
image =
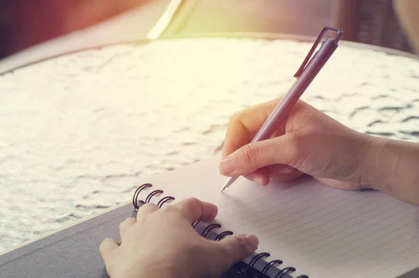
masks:
[[[159,36],[317,36],[330,25],[348,41],[418,54],[418,13],[418,0],[0,0],[0,59],[56,38],[73,38],[61,39],[64,52],[145,39],[165,14]]]

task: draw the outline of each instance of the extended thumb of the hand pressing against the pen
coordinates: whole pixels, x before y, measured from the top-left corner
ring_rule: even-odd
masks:
[[[221,175],[235,177],[247,175],[256,169],[274,164],[293,165],[297,158],[295,135],[285,134],[276,138],[251,142],[226,156],[219,165]]]

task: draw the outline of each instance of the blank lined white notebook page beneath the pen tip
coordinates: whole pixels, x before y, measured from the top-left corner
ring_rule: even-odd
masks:
[[[397,277],[419,266],[419,207],[378,191],[343,191],[310,179],[258,186],[238,179],[221,193],[219,156],[140,182],[175,201],[219,207],[221,231],[253,233],[267,261],[281,259],[293,276]],[[145,193],[149,193],[148,192]]]

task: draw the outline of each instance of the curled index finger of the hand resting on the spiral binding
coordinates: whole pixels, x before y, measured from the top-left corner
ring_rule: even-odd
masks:
[[[196,198],[189,198],[171,205],[186,217],[189,223],[196,221],[212,221],[215,219],[218,209],[216,205],[200,201]],[[168,206],[169,207],[169,206]]]

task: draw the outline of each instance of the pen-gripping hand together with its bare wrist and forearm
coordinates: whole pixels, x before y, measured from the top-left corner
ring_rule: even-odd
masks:
[[[251,142],[280,98],[235,114],[220,173],[266,185],[303,174],[339,189],[376,189],[419,205],[419,144],[353,131],[298,101],[270,139]],[[249,143],[251,142],[251,143]]]

